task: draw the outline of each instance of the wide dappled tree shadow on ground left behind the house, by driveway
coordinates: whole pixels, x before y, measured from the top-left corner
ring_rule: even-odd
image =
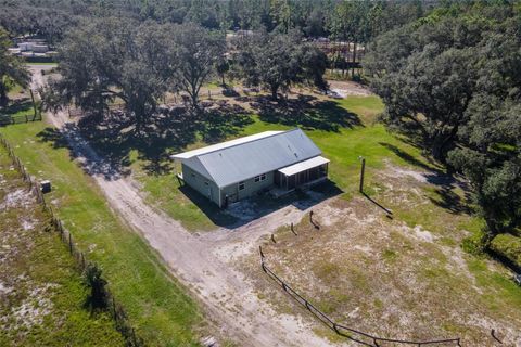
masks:
[[[60,131],[47,128],[38,137],[52,142],[54,147],[75,143],[72,155],[81,157],[89,174],[115,179],[130,174],[129,166],[135,158],[144,163],[148,175],[169,174],[173,166],[169,155],[194,143],[198,136],[205,142],[217,142],[239,133],[252,121],[244,108],[226,102],[198,113],[175,105],[160,107],[139,134],[132,118],[116,110],[103,116],[86,114],[77,126],[71,123]],[[131,156],[132,152],[137,155]]]

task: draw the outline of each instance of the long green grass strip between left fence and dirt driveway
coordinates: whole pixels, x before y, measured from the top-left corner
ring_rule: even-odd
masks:
[[[47,198],[80,249],[103,269],[128,311],[137,334],[151,346],[198,345],[202,316],[186,290],[169,274],[150,246],[111,211],[94,182],[60,141],[42,140],[45,123],[0,128],[31,175],[50,179]],[[204,327],[203,327],[204,329]]]

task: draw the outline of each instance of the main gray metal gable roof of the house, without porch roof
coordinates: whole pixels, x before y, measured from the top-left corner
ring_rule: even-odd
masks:
[[[301,129],[251,139],[215,151],[194,152],[191,156],[185,155],[187,152],[173,157],[223,188],[321,154]]]

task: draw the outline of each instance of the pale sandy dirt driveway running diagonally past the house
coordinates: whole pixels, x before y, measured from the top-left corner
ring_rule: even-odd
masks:
[[[46,67],[37,66],[33,69],[33,88],[45,82],[41,69]],[[88,158],[89,163],[98,166],[107,165],[81,138],[76,125],[71,123],[64,112],[49,118],[62,131],[79,158]],[[213,237],[203,240],[187,232],[178,221],[148,206],[131,179],[116,177],[107,180],[103,175],[91,176],[114,210],[144,236],[175,277],[203,303],[208,317],[221,329],[224,336],[240,340],[241,346],[328,345],[295,317],[277,314],[254,294],[251,283],[232,269],[226,253],[214,253],[217,250],[217,241],[227,239],[229,231],[218,231]],[[237,232],[245,232],[246,228],[247,226]],[[256,230],[257,232],[250,233],[252,239],[259,236],[259,229]]]

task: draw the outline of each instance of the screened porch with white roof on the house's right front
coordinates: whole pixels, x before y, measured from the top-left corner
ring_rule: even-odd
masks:
[[[322,156],[287,166],[275,172],[275,184],[281,190],[291,191],[297,187],[313,184],[328,177],[329,159]]]

